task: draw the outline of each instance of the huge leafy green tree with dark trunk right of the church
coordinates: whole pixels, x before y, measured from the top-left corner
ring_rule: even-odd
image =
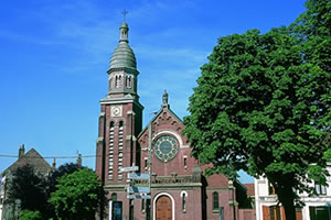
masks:
[[[214,165],[207,174],[266,176],[288,220],[297,193],[312,193],[303,183],[325,183],[330,147],[331,75],[301,36],[281,28],[221,37],[184,118],[192,155]]]

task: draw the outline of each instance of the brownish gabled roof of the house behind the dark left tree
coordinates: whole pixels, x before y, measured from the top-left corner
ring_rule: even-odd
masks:
[[[34,148],[31,148],[29,152],[26,152],[26,154],[21,156],[18,161],[4,169],[1,175],[4,176],[8,172],[13,172],[18,167],[22,167],[26,164],[31,165],[40,173],[49,173],[52,169],[50,164],[45,162],[45,160]]]

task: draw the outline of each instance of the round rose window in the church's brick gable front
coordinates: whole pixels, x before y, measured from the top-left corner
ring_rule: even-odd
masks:
[[[170,135],[162,135],[154,142],[154,154],[162,162],[169,162],[178,153],[178,142]]]

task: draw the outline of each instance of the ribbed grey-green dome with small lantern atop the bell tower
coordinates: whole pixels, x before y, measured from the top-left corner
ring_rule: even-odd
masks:
[[[119,44],[110,58],[110,69],[125,67],[137,69],[136,56],[128,44],[128,32],[129,26],[124,22],[119,28]]]

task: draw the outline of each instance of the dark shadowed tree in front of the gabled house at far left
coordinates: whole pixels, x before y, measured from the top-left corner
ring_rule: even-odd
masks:
[[[44,215],[47,204],[46,178],[29,164],[18,167],[9,180],[7,202],[15,204],[20,200],[21,209],[41,211]]]

